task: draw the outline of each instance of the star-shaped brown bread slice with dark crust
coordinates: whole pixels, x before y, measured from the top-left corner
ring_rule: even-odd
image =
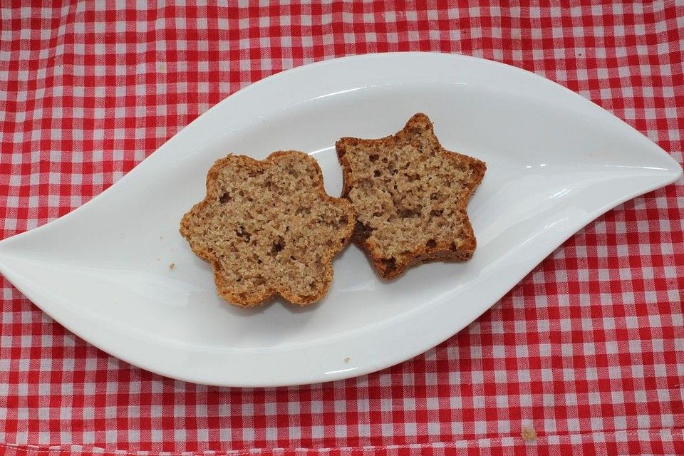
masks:
[[[342,196],[356,209],[354,242],[380,276],[472,257],[476,241],[466,207],[487,166],[445,150],[427,115],[414,115],[385,138],[342,138],[336,149]]]

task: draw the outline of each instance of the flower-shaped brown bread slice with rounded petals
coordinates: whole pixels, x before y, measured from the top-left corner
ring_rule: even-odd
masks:
[[[180,222],[197,256],[212,263],[219,296],[256,306],[276,295],[311,304],[328,291],[332,260],[351,240],[355,214],[329,196],[304,152],[265,160],[228,155],[207,174],[207,195]]]

